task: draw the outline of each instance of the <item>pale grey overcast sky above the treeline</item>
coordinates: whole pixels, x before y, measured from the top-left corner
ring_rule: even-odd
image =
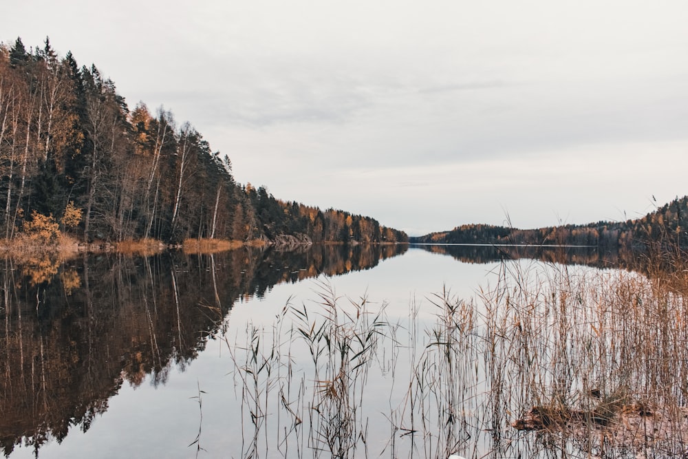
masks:
[[[238,182],[422,235],[625,220],[688,194],[688,2],[8,1],[189,121]]]

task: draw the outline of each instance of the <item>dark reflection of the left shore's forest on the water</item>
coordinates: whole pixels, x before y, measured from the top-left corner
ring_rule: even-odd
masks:
[[[166,381],[201,352],[237,299],[368,269],[406,246],[242,249],[214,255],[6,259],[0,270],[0,443],[36,454],[89,429],[122,383]]]

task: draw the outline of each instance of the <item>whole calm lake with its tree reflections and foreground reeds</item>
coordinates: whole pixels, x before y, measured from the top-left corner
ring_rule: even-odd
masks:
[[[6,259],[0,440],[10,458],[673,457],[688,444],[688,305],[632,260],[490,246]]]

